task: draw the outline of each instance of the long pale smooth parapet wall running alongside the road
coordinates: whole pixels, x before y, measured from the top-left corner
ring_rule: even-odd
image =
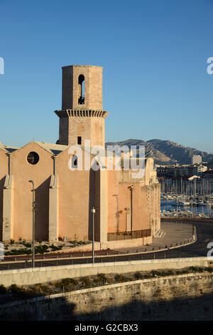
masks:
[[[182,269],[184,267],[207,267],[207,257],[146,259],[129,262],[106,262],[94,264],[62,265],[58,267],[35,267],[34,269],[14,269],[0,272],[0,284],[31,285],[64,278],[77,278],[98,273],[118,273],[151,271],[153,269]]]

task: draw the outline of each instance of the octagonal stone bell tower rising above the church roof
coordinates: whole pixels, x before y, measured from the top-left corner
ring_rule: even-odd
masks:
[[[62,67],[62,110],[58,144],[105,145],[104,120],[109,114],[102,110],[101,66],[72,65]]]

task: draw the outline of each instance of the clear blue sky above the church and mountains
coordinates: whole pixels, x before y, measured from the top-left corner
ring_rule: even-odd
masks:
[[[106,140],[213,153],[212,0],[0,0],[0,141],[55,143],[61,67],[104,66]]]

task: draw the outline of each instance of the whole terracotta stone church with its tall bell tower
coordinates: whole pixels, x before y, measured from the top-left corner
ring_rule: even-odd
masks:
[[[99,248],[150,243],[160,229],[160,186],[153,160],[145,174],[109,169],[107,150],[102,167],[91,147],[105,145],[100,66],[62,68],[62,110],[57,144],[33,141],[22,148],[0,143],[0,241],[32,239],[32,183],[35,185],[35,239],[92,239]],[[86,141],[86,142],[85,142]],[[72,148],[70,152],[70,148]],[[113,155],[113,167],[116,155]],[[86,160],[99,169],[84,168]],[[80,169],[79,166],[83,168]]]

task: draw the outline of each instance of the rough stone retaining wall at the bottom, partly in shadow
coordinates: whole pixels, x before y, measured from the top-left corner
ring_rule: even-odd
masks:
[[[213,274],[137,280],[0,306],[0,320],[211,320]]]

